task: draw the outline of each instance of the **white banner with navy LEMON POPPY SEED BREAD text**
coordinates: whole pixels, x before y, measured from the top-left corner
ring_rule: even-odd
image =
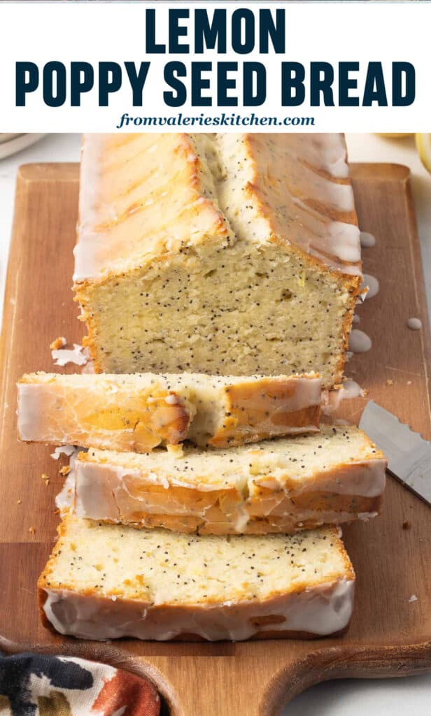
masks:
[[[0,4],[1,132],[426,132],[431,4]]]

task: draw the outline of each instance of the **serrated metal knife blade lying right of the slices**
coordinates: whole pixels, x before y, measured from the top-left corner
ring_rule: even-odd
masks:
[[[389,473],[431,505],[431,442],[372,400],[359,427],[383,450]]]

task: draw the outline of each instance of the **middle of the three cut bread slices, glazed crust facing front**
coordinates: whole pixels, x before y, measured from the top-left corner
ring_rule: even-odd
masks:
[[[91,449],[76,462],[75,509],[188,533],[292,533],[377,515],[386,465],[356,427],[251,448]]]

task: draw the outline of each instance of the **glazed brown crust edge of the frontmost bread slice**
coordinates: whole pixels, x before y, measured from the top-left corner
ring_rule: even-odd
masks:
[[[155,639],[188,636],[210,642],[241,642],[266,632],[273,636],[324,637],[342,632],[352,616],[354,580],[280,596],[264,604],[225,602],[216,606],[155,606],[109,597],[44,589],[44,614],[60,634],[80,639]],[[261,623],[259,623],[261,622]]]

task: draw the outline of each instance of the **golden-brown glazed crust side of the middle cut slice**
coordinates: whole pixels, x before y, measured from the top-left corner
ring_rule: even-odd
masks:
[[[104,453],[89,451],[79,456],[79,462],[95,463],[106,470],[97,473],[97,478],[100,477],[109,490],[114,485],[120,488],[119,510],[112,510],[107,502],[98,513],[97,505],[95,508],[91,500],[86,507],[82,495],[81,515],[96,519],[103,516],[103,521],[120,521],[136,528],[163,527],[183,533],[218,535],[238,531],[289,534],[325,523],[341,524],[367,518],[379,514],[387,460],[366,435],[364,446],[357,460],[339,463],[331,470],[316,470],[306,483],[289,475],[289,471],[280,473],[277,478],[268,473],[266,485],[256,483],[250,476],[245,492],[236,485],[205,490],[200,485],[203,478],[195,473],[190,481],[188,473],[181,473],[180,463],[175,483],[168,474],[167,483],[147,481],[139,469],[133,475],[132,468],[130,476],[122,474],[118,479],[116,463],[110,463],[109,457],[104,463]],[[255,453],[259,454],[258,448],[247,450],[250,456]],[[122,468],[122,460],[118,465]]]

